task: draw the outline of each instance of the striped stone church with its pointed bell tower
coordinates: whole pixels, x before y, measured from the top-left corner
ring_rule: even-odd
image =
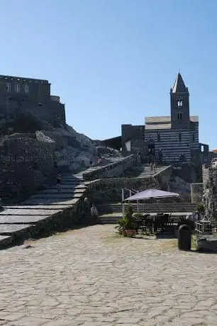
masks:
[[[170,116],[148,117],[140,126],[122,125],[122,148],[167,164],[198,165],[208,160],[208,145],[199,143],[199,117],[190,116],[189,90],[181,74],[170,89]]]

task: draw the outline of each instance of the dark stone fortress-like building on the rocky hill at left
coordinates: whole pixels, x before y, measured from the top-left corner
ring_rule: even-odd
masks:
[[[65,125],[65,105],[50,95],[48,80],[0,75],[0,121],[31,113],[52,125]]]

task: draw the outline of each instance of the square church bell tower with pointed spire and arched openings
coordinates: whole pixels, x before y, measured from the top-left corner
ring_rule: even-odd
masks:
[[[185,86],[181,74],[177,74],[174,86],[170,89],[171,128],[189,129],[189,90]]]

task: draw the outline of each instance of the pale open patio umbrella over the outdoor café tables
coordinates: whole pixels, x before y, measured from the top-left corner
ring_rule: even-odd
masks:
[[[135,195],[126,198],[125,201],[141,201],[150,198],[167,198],[167,197],[179,197],[179,193],[171,193],[169,191],[162,191],[158,189],[148,189],[145,191],[141,191],[140,193],[135,193]]]

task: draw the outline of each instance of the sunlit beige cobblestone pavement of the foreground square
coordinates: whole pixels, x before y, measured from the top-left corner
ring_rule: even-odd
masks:
[[[0,252],[0,325],[217,325],[217,255],[94,225]]]

